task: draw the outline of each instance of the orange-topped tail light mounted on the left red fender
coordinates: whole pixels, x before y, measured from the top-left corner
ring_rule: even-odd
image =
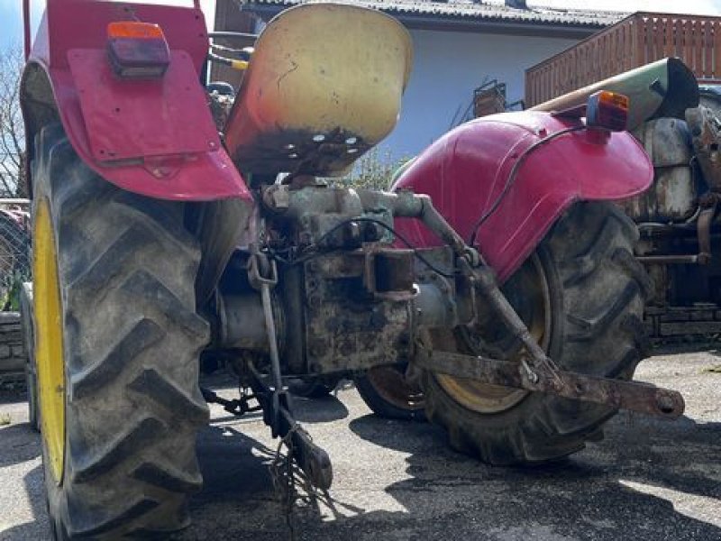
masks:
[[[107,53],[115,74],[121,78],[160,78],[170,64],[168,41],[157,24],[109,23]]]

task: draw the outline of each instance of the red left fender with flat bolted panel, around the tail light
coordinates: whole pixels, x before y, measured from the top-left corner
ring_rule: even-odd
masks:
[[[106,28],[125,20],[160,24],[171,51],[164,77],[114,77]],[[38,103],[54,101],[80,158],[118,187],[163,199],[251,200],[198,82],[207,49],[197,8],[48,0],[23,73],[27,148],[47,122]]]

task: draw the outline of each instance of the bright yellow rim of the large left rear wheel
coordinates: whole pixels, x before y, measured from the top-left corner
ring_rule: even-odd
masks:
[[[41,201],[35,213],[32,239],[35,360],[41,433],[50,472],[59,483],[65,461],[65,363],[58,259],[47,201]]]

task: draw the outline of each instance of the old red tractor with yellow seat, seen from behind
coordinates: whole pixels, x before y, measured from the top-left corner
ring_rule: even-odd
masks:
[[[290,378],[402,364],[451,445],[497,464],[572,454],[619,408],[681,414],[678,393],[630,381],[652,288],[611,201],[648,188],[653,168],[623,131],[625,96],[463,124],[390,191],[338,188],[324,179],[396,123],[403,26],[301,5],[252,51],[208,49],[197,2],[48,0],[29,54],[32,335],[56,538],[187,526],[206,401],[242,413],[257,399],[327,489]],[[208,105],[223,86],[207,91],[206,60],[244,70],[227,118]],[[201,354],[230,363],[239,399],[201,389]]]

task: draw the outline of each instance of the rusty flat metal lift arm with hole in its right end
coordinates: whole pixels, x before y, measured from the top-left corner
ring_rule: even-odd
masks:
[[[532,380],[523,367],[515,362],[461,353],[434,352],[423,344],[419,344],[417,352],[414,362],[418,368],[457,378],[596,402],[669,419],[680,417],[684,410],[684,400],[678,391],[649,383],[609,380],[557,369],[552,373],[534,371],[536,379]]]

